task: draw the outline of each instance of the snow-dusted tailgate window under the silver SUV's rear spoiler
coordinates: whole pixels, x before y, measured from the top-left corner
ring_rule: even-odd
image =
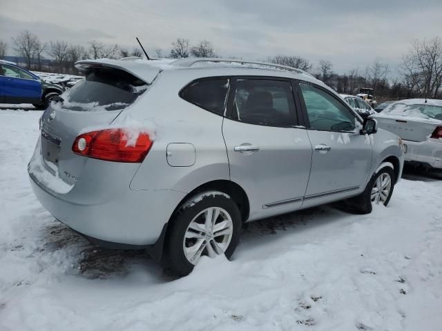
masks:
[[[123,70],[93,68],[63,96],[63,108],[121,110],[131,105],[146,89],[144,81]]]

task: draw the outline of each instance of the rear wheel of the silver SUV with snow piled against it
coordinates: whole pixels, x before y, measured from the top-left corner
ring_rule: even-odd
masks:
[[[212,217],[209,219],[208,215]],[[212,221],[206,223],[206,219]],[[218,225],[216,232],[211,225],[213,219],[215,228]],[[166,265],[173,274],[182,277],[192,272],[202,255],[224,254],[230,259],[240,239],[241,225],[238,205],[227,194],[210,191],[195,195],[172,219],[166,238]]]

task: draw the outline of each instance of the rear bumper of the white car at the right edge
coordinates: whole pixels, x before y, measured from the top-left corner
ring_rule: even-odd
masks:
[[[407,146],[404,154],[405,162],[423,163],[432,168],[442,169],[442,141],[427,139],[426,141],[403,141]]]

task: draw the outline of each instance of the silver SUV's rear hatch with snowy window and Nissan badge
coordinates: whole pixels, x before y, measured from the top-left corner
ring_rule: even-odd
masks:
[[[117,62],[117,61],[115,61]],[[41,156],[44,167],[68,185],[74,185],[88,158],[72,152],[81,132],[106,127],[146,91],[159,70],[137,77],[125,68],[82,61],[85,78],[52,101],[41,117]],[[143,79],[142,79],[143,78]]]

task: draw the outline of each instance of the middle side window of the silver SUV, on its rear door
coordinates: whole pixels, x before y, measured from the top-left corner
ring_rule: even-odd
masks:
[[[289,81],[238,79],[232,119],[262,126],[293,126],[295,103]]]

